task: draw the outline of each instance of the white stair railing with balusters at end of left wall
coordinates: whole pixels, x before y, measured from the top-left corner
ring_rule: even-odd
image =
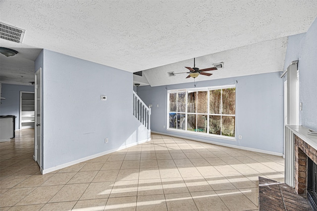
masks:
[[[151,130],[151,108],[149,108],[141,98],[133,91],[133,115],[137,118],[148,130]]]

